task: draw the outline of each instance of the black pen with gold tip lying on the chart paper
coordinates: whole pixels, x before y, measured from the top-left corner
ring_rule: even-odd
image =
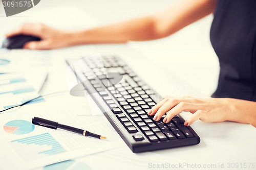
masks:
[[[97,135],[95,133],[91,133],[87,130],[78,129],[78,128],[74,128],[74,127],[67,126],[67,125],[62,125],[62,124],[59,124],[57,122],[53,122],[51,120],[47,120],[47,119],[44,119],[44,118],[33,117],[32,118],[32,124],[47,127],[47,128],[51,128],[51,129],[57,129],[57,128],[64,129],[64,130],[67,130],[67,131],[71,131],[71,132],[74,132],[74,133],[81,134],[83,136],[91,136],[91,137],[96,137],[96,138],[99,138],[99,139],[106,139],[106,137],[104,137],[104,136]]]

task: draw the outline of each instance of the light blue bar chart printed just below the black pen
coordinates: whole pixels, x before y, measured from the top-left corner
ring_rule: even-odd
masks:
[[[17,139],[11,142],[51,146],[50,150],[38,152],[38,154],[55,155],[55,154],[66,152],[66,150],[49,133],[26,137],[23,139]]]

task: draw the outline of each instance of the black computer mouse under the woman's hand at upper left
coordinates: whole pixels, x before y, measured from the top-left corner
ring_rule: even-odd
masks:
[[[8,48],[10,50],[12,49],[20,49],[23,48],[24,44],[29,41],[40,41],[41,38],[31,35],[15,35],[12,37],[8,37],[3,42],[3,47]]]

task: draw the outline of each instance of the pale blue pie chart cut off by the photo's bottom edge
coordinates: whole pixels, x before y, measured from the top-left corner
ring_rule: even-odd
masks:
[[[74,160],[67,160],[63,162],[54,163],[44,167],[44,170],[90,170],[91,167],[83,162],[77,162]]]

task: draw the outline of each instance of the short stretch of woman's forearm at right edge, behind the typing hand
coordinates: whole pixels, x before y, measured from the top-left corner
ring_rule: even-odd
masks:
[[[256,102],[238,99],[229,100],[232,111],[227,113],[226,120],[256,127]]]

